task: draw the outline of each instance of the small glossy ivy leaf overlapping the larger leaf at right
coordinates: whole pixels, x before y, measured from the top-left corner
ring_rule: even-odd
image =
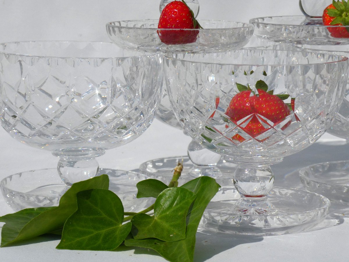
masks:
[[[131,219],[134,239],[157,238],[168,242],[185,239],[185,218],[194,199],[195,194],[188,189],[165,189],[154,203],[154,217],[136,214]]]

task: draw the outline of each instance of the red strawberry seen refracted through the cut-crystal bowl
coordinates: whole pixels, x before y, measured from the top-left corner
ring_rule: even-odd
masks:
[[[249,87],[246,87],[247,90],[242,90],[240,93],[235,95],[230,101],[229,107],[225,114],[229,116],[234,123],[237,123],[239,120],[252,115],[252,118],[248,124],[243,127],[240,125],[246,133],[251,137],[257,137],[259,134],[268,130],[265,128],[261,122],[265,122],[257,115],[263,116],[274,123],[274,126],[280,123],[285,117],[291,114],[291,111],[287,104],[285,104],[282,99],[286,99],[288,95],[273,95],[272,92],[267,93],[266,90],[268,87],[265,82],[259,80],[256,83],[256,87],[261,86],[263,89],[258,89],[258,95],[255,95]],[[239,89],[242,86],[238,84]],[[287,128],[290,123],[283,126],[282,129]],[[243,142],[245,139],[236,134],[232,137],[233,140]]]

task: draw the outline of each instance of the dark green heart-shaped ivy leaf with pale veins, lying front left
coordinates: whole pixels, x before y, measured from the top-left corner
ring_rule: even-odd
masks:
[[[72,250],[114,250],[131,232],[132,224],[122,225],[124,206],[114,192],[91,189],[76,195],[77,210],[63,228],[56,248]]]

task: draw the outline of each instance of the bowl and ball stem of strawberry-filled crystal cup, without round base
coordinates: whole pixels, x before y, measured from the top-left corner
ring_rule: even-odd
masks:
[[[348,58],[263,49],[173,54],[165,56],[164,75],[173,111],[185,131],[238,165],[232,176],[240,199],[229,210],[284,214],[267,198],[274,183],[270,165],[311,145],[330,127],[347,84]],[[263,102],[267,111],[251,109],[233,119],[227,109],[239,89],[252,90],[250,98],[262,96],[261,81],[268,94],[283,96],[288,114],[272,122],[269,113],[277,114],[277,109]],[[252,108],[256,105],[251,102]],[[256,122],[258,130],[251,130]]]

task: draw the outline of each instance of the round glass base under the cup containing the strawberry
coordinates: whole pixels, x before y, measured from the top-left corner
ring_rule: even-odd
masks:
[[[200,228],[240,235],[281,235],[308,231],[327,216],[326,197],[289,188],[273,188],[267,199],[241,199],[222,187],[208,204]]]

